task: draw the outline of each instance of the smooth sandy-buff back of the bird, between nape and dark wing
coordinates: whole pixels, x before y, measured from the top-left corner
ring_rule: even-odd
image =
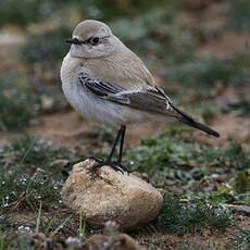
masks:
[[[115,83],[129,89],[155,86],[151,73],[142,61],[122,41],[117,39],[117,49],[109,57],[84,59],[85,70],[99,80]]]

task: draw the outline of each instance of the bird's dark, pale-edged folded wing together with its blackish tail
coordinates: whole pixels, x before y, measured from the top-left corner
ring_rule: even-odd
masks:
[[[143,87],[141,90],[130,90],[117,84],[96,79],[82,71],[78,73],[78,80],[100,98],[137,110],[152,112],[153,114],[172,116],[178,122],[188,124],[210,135],[220,136],[218,133],[196,122],[190,115],[176,108],[158,86]]]

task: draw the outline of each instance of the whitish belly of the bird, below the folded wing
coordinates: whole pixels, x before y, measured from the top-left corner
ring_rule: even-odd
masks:
[[[63,84],[62,88],[71,105],[87,118],[114,127],[142,122],[146,118],[143,112],[102,99],[83,85]]]

